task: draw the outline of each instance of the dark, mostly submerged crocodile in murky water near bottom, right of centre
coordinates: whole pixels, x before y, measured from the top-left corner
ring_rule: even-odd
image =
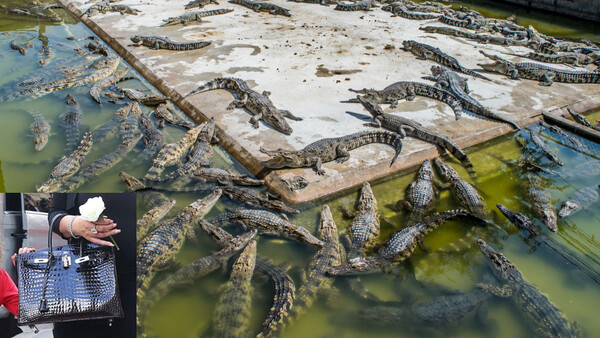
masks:
[[[435,297],[410,307],[374,306],[360,310],[359,316],[377,325],[403,325],[429,332],[446,329],[481,316],[483,305],[492,295],[481,289]],[[438,333],[439,334],[439,333]]]

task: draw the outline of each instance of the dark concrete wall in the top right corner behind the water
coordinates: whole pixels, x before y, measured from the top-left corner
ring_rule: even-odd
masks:
[[[525,7],[544,9],[600,22],[600,0],[503,0]]]

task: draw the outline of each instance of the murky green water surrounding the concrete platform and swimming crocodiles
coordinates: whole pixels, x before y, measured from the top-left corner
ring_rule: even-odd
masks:
[[[520,24],[525,26],[532,24],[546,34],[595,40],[599,40],[600,37],[598,27],[577,20],[559,19],[546,14],[528,14],[524,10],[507,10],[493,4],[469,5],[469,7],[496,17],[506,17],[515,13],[519,17]],[[46,24],[37,20],[15,18],[3,14],[0,10],[0,32],[9,33],[9,35],[0,35],[0,83],[3,91],[10,89],[7,86],[16,79],[40,71],[37,64],[40,58],[37,51],[42,44],[38,39],[40,34],[48,37],[54,50],[53,59],[46,66],[47,68],[73,55],[74,48],[82,47],[87,43],[66,40],[68,36],[80,38],[91,35],[91,32],[64,12],[60,10],[56,12],[66,18],[64,24]],[[34,45],[26,56],[9,48],[10,41],[19,36],[31,38],[31,43]],[[151,90],[139,76],[136,77],[137,80],[126,83],[127,87]],[[58,116],[65,110],[67,93],[75,96],[79,102],[83,114],[82,131],[86,128],[93,129],[110,119],[118,106],[108,102],[98,105],[89,96],[89,88],[89,85],[82,86],[54,92],[40,98],[21,98],[0,104],[0,114],[3,119],[0,123],[0,144],[2,144],[0,160],[6,191],[35,190],[63,155],[65,137]],[[148,108],[143,109],[148,112]],[[48,145],[41,152],[35,152],[33,139],[28,135],[29,124],[32,121],[27,113],[29,110],[39,112],[52,125],[53,134]],[[600,119],[600,112],[589,115],[589,119],[590,121]],[[169,127],[165,131],[168,142],[178,139],[183,133],[182,130]],[[542,135],[549,148],[557,151],[566,163],[564,167],[554,168],[547,160],[541,160],[545,167],[563,173],[560,177],[545,180],[546,188],[551,193],[555,206],[559,206],[576,189],[600,183],[600,147],[597,144],[586,143],[591,150],[589,155],[585,155],[564,146],[561,139],[552,139],[549,133],[543,132]],[[95,145],[86,159],[86,164],[113,151],[118,143],[118,138],[114,137]],[[214,161],[217,167],[245,172],[237,162],[219,148],[215,150]],[[132,154],[135,155],[137,151],[134,150]],[[493,210],[493,222],[499,228],[486,229],[472,222],[448,222],[426,236],[425,244],[429,247],[429,252],[425,253],[417,249],[410,262],[399,266],[396,275],[363,276],[361,277],[363,285],[381,300],[398,302],[404,306],[448,294],[451,290],[469,290],[490,272],[483,255],[473,246],[474,243],[470,239],[473,236],[480,236],[504,252],[529,282],[539,287],[570,321],[576,321],[583,328],[586,336],[595,336],[600,332],[596,311],[597,300],[600,299],[600,286],[543,245],[530,247],[516,228],[494,207],[496,203],[502,203],[532,219],[535,218],[529,210],[525,173],[520,168],[507,164],[509,160],[518,160],[522,157],[516,135],[507,135],[469,148],[467,153],[474,164],[475,177],[469,176],[457,163],[449,163],[463,178],[479,188],[488,207]],[[123,161],[99,178],[81,186],[78,191],[124,191],[124,185],[118,179],[117,173],[125,170],[134,176],[142,176],[144,169],[144,166],[132,167],[130,163]],[[406,215],[394,211],[391,207],[397,200],[403,198],[407,185],[413,179],[414,172],[373,186],[381,213],[393,224],[382,223],[381,241],[403,228]],[[169,194],[169,197],[177,200],[171,215],[202,196],[203,194],[200,193]],[[328,203],[340,233],[345,232],[351,220],[342,216],[339,207],[352,205],[356,198],[357,193],[352,192]],[[580,211],[567,219],[559,219],[557,234],[550,234],[544,230],[548,236],[564,244],[596,269],[600,269],[600,264],[594,263],[600,262],[600,243],[597,239],[600,236],[599,205],[595,203],[587,210]],[[240,205],[224,197],[207,217],[236,207]],[[459,205],[449,191],[442,191],[436,199],[436,211],[457,207]],[[146,209],[140,204],[138,213],[141,215]],[[314,232],[319,221],[320,209],[319,205],[306,206],[301,214],[290,219],[293,223]],[[539,221],[535,222],[541,225]],[[463,238],[465,240],[461,242],[460,239]],[[449,243],[457,246],[470,244],[471,247],[457,251],[454,247],[449,247]],[[215,244],[207,236],[199,236],[196,242],[186,242],[177,257],[183,266],[214,252],[215,249]],[[278,264],[285,263],[290,266],[288,272],[295,281],[296,288],[299,289],[302,285],[303,271],[316,249],[293,241],[260,238],[258,251]],[[158,273],[154,282],[160,281],[173,271],[175,269]],[[152,307],[147,318],[143,318],[144,326],[163,337],[197,337],[204,334],[210,326],[214,306],[219,297],[219,287],[227,280],[227,274],[227,271],[217,271],[192,287],[172,291]],[[251,330],[258,333],[271,306],[273,290],[265,279],[255,278],[253,285]],[[439,334],[460,337],[525,337],[534,334],[531,323],[527,322],[523,313],[510,300],[500,298],[492,298],[485,304],[487,314],[481,316],[482,320],[467,320],[439,331],[419,331],[418,327],[403,321],[391,326],[380,326],[365,321],[357,314],[359,310],[375,304],[361,300],[343,278],[337,279],[334,286],[335,292],[320,295],[303,316],[285,328],[282,335],[285,337],[364,337],[367,335],[410,337]]]

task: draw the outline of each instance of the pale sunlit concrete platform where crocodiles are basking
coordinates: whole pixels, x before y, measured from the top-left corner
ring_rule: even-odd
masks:
[[[75,15],[91,4],[59,0]],[[400,50],[405,39],[417,40],[439,47],[456,57],[467,68],[479,68],[487,63],[478,51],[500,54],[524,52],[520,47],[483,45],[419,30],[420,26],[442,25],[431,21],[413,21],[390,17],[390,13],[375,8],[371,12],[340,12],[333,6],[273,1],[288,8],[291,18],[268,13],[255,13],[248,8],[222,1],[201,10],[232,8],[229,14],[207,17],[202,23],[188,26],[159,27],[162,20],[185,12],[187,0],[168,2],[147,0],[123,1],[142,12],[137,16],[109,13],[83,22],[111,45],[133,67],[141,72],[161,92],[196,121],[215,117],[220,129],[222,146],[251,172],[266,176],[267,184],[285,200],[303,203],[346,189],[364,181],[389,177],[419,164],[424,158],[437,155],[430,144],[407,139],[402,154],[389,167],[393,151],[385,145],[369,145],[351,152],[343,164],[326,163],[324,176],[311,169],[277,170],[269,172],[259,165],[268,156],[267,149],[301,149],[325,137],[338,137],[367,130],[366,121],[347,111],[368,114],[360,104],[341,103],[354,97],[348,88],[384,87],[396,81],[421,81],[430,75],[430,61],[417,60]],[[199,9],[194,9],[196,11]],[[133,35],[168,36],[185,42],[211,40],[212,44],[195,51],[151,50],[128,47]],[[518,58],[505,55],[507,59]],[[183,95],[215,77],[239,77],[259,92],[272,93],[271,99],[281,109],[290,110],[303,121],[290,121],[294,132],[285,136],[264,123],[253,129],[248,123],[250,113],[243,109],[227,110],[234,97],[224,90],[210,91],[184,100]],[[492,82],[469,77],[471,95],[483,105],[524,126],[549,111],[574,102],[585,101],[588,110],[600,105],[596,96],[600,85],[559,84],[542,87],[535,81],[513,81],[500,75],[489,75]],[[450,107],[440,102],[417,97],[412,102],[400,102],[394,112],[420,122],[468,147],[512,131],[508,125],[463,115],[455,121]],[[477,168],[475,168],[477,170]],[[291,192],[282,179],[295,175],[310,184]]]

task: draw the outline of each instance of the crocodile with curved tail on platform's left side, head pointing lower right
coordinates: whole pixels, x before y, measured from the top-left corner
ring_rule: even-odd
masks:
[[[191,91],[185,97],[191,95],[215,90],[215,89],[228,89],[237,95],[238,99],[232,101],[227,109],[233,109],[234,107],[245,107],[254,116],[250,119],[252,127],[258,128],[258,120],[263,120],[264,123],[271,126],[275,130],[282,132],[286,135],[292,133],[292,127],[288,125],[285,118],[289,118],[294,121],[302,121],[302,118],[294,116],[287,110],[275,108],[269,95],[268,91],[263,91],[262,94],[250,89],[248,84],[242,79],[237,78],[216,78],[212,81],[205,83],[198,87],[196,90]]]

